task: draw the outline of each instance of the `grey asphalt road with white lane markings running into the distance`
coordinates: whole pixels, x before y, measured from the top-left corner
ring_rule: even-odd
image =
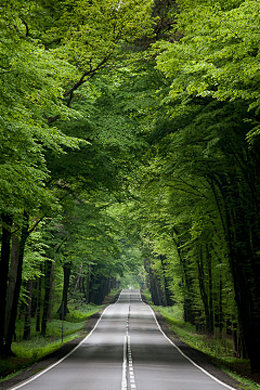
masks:
[[[224,390],[160,330],[140,291],[122,290],[94,329],[58,363],[13,387],[23,390]]]

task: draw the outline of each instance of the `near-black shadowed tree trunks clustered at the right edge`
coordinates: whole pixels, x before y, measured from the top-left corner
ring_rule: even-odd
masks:
[[[259,255],[259,213],[257,209],[248,219],[245,212],[245,199],[248,205],[256,203],[250,199],[250,191],[245,183],[239,183],[234,176],[214,178],[221,194],[224,223],[226,224],[226,242],[229,244],[230,269],[235,289],[239,328],[243,335],[246,354],[252,372],[260,370],[260,261]],[[237,194],[243,193],[243,196]],[[256,239],[255,237],[258,237]],[[252,240],[252,237],[255,238]]]

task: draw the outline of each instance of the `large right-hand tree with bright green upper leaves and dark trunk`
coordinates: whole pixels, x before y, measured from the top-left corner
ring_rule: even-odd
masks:
[[[256,73],[259,40],[255,29],[258,12],[256,1],[232,4],[207,1],[195,6],[194,2],[184,1],[177,26],[184,36],[174,43],[162,42],[157,57],[158,67],[171,78],[169,113],[177,134],[172,133],[172,139],[178,140],[179,135],[181,140],[185,134],[184,162],[190,155],[192,176],[204,177],[214,193],[229,248],[240,328],[253,370],[260,366],[259,325],[256,325],[259,323],[256,277],[259,274],[259,145],[255,136],[249,148],[246,139],[252,141],[251,135],[258,133],[255,126],[259,105]],[[242,23],[248,28],[240,28]],[[180,117],[190,118],[191,125],[177,130],[173,118]],[[249,235],[256,240],[251,242]]]

